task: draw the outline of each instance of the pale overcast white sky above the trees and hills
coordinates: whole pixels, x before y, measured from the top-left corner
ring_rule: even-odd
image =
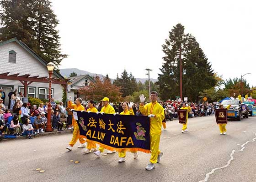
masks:
[[[214,72],[256,86],[256,1],[52,0],[59,19],[60,69],[78,68],[115,78],[124,69],[157,79],[161,45],[178,23],[196,39]]]

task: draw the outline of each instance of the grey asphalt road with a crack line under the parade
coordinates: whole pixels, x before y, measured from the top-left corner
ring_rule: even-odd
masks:
[[[182,134],[178,121],[168,121],[160,141],[164,154],[152,171],[145,171],[150,154],[142,152],[138,159],[127,152],[123,163],[117,153],[83,155],[79,143],[68,152],[71,134],[3,141],[1,181],[256,182],[256,117],[229,121],[226,128],[227,135],[220,135],[214,116],[199,117],[189,119],[189,132]]]

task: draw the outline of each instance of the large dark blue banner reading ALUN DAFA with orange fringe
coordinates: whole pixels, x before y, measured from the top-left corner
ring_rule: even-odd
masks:
[[[149,117],[73,111],[80,135],[109,150],[150,153]]]

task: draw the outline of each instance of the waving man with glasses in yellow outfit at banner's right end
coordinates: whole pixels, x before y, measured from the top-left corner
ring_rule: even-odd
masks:
[[[146,97],[143,94],[139,96],[140,105],[139,111],[150,118],[150,151],[151,158],[146,170],[152,170],[155,167],[156,162],[160,162],[163,152],[159,150],[160,135],[162,121],[165,118],[164,108],[157,102],[158,93],[156,91],[151,91],[150,100],[151,102],[144,106],[144,101]]]

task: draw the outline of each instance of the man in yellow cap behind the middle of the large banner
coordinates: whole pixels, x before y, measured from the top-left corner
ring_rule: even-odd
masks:
[[[103,102],[103,107],[101,108],[101,114],[115,114],[116,111],[114,109],[114,107],[112,107],[110,104],[109,104],[109,98],[107,97],[104,97],[102,100]],[[99,114],[99,112],[96,112],[97,114]],[[96,151],[96,152],[93,152],[96,156],[98,157],[101,157],[101,153],[104,151],[104,147],[100,146],[99,147],[99,150]],[[111,153],[114,153],[116,151],[107,151],[108,154],[111,154]]]

